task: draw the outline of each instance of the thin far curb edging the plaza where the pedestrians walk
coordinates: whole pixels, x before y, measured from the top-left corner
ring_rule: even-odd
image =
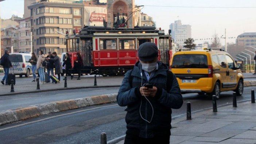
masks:
[[[10,96],[15,94],[25,94],[25,93],[40,93],[40,92],[49,92],[49,91],[56,91],[56,90],[70,90],[70,89],[86,89],[86,88],[99,88],[99,87],[119,87],[120,85],[112,85],[112,86],[81,86],[81,87],[61,87],[58,89],[40,89],[40,90],[30,90],[27,92],[13,92],[13,93],[4,93],[0,94],[0,96]]]

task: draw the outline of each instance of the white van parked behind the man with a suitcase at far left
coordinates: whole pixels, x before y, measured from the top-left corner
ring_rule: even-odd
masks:
[[[29,77],[32,74],[32,65],[29,62],[31,59],[31,54],[28,53],[10,53],[9,54],[10,61],[14,68],[11,68],[9,73],[13,73],[15,75],[25,75],[25,77]]]

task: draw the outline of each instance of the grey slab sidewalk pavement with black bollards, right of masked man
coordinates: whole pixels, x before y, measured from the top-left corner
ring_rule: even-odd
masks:
[[[192,113],[192,120],[186,120],[186,116],[173,118],[170,144],[256,144],[255,103],[217,109]]]

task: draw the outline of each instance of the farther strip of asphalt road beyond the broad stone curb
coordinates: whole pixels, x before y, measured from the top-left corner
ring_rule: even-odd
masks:
[[[98,96],[101,94],[117,93],[119,87],[95,87],[86,89],[56,90],[41,93],[16,94],[12,96],[0,97],[0,111],[23,108],[46,102],[69,100],[75,98],[85,98]]]

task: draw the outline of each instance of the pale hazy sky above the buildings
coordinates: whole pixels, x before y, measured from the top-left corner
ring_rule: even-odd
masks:
[[[192,38],[212,38],[214,32],[228,37],[237,37],[244,32],[256,32],[256,0],[135,0],[144,5],[142,12],[153,17],[157,27],[168,32],[175,20],[191,25]],[[0,16],[23,16],[24,0],[0,2]],[[197,40],[203,43],[207,40]],[[210,42],[210,41],[209,41]],[[235,39],[227,39],[235,42]],[[224,39],[221,39],[224,45]]]

